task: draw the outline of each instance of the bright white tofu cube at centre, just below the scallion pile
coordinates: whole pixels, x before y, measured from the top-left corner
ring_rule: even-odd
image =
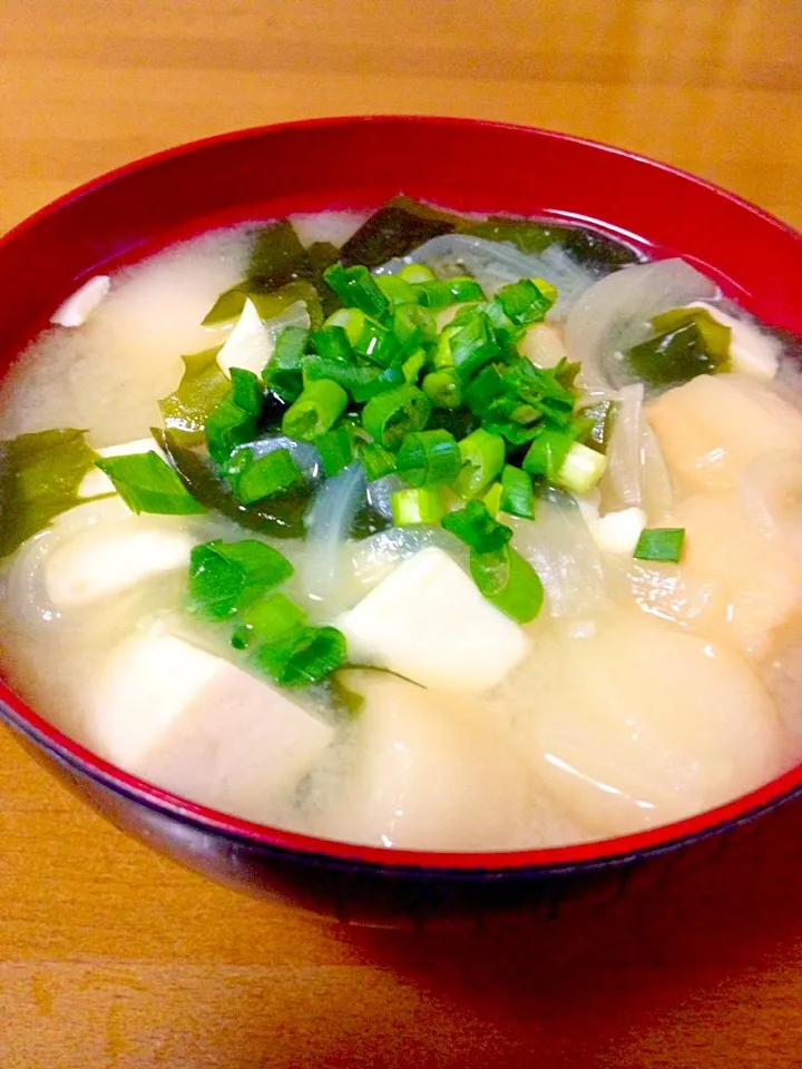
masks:
[[[520,627],[436,547],[398,565],[336,626],[352,660],[443,690],[486,690],[529,649]]]

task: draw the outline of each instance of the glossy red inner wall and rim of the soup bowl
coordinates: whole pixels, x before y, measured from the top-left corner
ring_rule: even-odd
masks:
[[[82,277],[209,227],[291,212],[376,207],[404,193],[464,212],[593,222],[677,254],[770,325],[802,334],[802,237],[707,183],[618,149],[521,127],[413,117],[325,119],[224,135],[150,157],[42,209],[0,241],[0,373]],[[121,773],[0,683],[12,723],[62,761],[149,805],[247,840],[381,866],[509,870],[598,863],[708,834],[802,790],[802,767],[678,824],[603,843],[430,854],[248,824]]]

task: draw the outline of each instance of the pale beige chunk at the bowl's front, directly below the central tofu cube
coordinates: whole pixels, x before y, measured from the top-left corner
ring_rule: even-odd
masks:
[[[464,695],[387,673],[343,673],[364,705],[349,758],[322,782],[316,827],[348,842],[407,850],[531,844],[531,774],[498,717]]]

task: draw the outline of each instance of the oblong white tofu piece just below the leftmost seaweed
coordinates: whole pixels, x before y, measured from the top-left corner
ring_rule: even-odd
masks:
[[[175,517],[133,512],[115,522],[78,529],[45,560],[47,596],[59,611],[106,600],[164,572],[188,567],[196,541],[178,527]]]

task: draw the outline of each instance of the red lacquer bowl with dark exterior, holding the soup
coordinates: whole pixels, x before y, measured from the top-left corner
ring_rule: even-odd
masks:
[[[375,207],[405,193],[472,212],[593,220],[679,254],[773,326],[802,334],[802,236],[653,160],[524,127],[409,117],[264,127],[151,156],[84,186],[0,241],[0,359],[85,276],[212,225]],[[168,794],[71,742],[0,683],[20,741],[118,826],[233,886],[351,920],[517,908],[620,884],[652,859],[736,831],[802,793],[802,766],[728,805],[623,838],[510,853],[352,846],[250,824]]]

